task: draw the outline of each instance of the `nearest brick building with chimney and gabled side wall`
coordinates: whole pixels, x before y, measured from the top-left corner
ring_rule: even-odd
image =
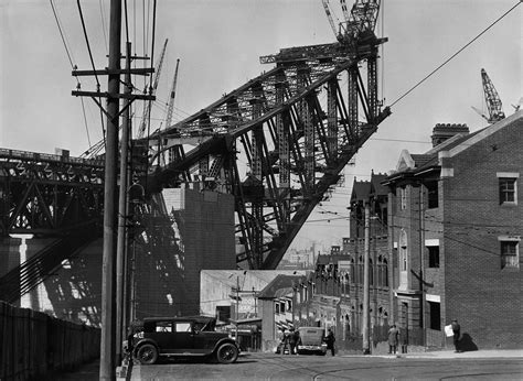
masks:
[[[450,344],[444,327],[457,318],[465,349],[523,345],[522,129],[521,111],[474,133],[437,124],[435,146],[403,151],[384,182],[392,309],[410,344]]]

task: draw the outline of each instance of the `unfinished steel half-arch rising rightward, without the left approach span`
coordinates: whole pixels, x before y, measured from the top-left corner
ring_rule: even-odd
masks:
[[[179,186],[192,174],[204,186],[234,194],[245,248],[238,265],[275,269],[340,172],[389,115],[377,100],[377,46],[384,41],[366,34],[356,46],[293,47],[262,57],[276,67],[150,138],[164,150],[196,142],[182,160],[156,168],[150,189]],[[213,163],[211,182],[198,165],[204,157]]]

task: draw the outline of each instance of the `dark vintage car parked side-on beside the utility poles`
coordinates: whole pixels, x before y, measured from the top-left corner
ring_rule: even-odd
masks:
[[[221,363],[238,358],[239,347],[228,333],[215,330],[216,319],[206,316],[148,317],[134,322],[124,347],[142,364],[159,357],[202,357]]]

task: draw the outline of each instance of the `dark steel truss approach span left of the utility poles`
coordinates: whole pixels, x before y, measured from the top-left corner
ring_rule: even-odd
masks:
[[[104,161],[0,149],[0,232],[63,236],[102,221]]]

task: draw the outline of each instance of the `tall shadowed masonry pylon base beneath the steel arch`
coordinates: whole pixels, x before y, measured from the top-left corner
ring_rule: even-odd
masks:
[[[158,199],[175,242],[138,251],[137,316],[200,314],[200,272],[236,269],[234,197],[172,188]]]

